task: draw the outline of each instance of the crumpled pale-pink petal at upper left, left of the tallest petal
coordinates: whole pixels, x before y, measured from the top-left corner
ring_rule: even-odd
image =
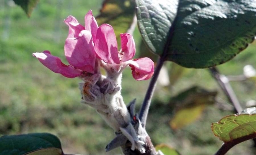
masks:
[[[85,30],[85,28],[79,24],[76,18],[73,16],[68,16],[64,22],[69,26],[68,38],[77,38],[79,33]]]

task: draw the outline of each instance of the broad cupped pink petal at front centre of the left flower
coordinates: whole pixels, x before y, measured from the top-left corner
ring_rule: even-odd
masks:
[[[90,31],[81,31],[78,38],[67,38],[64,51],[69,64],[89,73],[94,73],[96,55]]]

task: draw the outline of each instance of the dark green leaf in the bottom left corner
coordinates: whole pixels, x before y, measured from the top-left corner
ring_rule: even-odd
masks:
[[[0,137],[0,155],[24,155],[43,148],[58,148],[62,150],[59,139],[56,136],[48,133],[21,134]],[[57,151],[55,151],[55,153],[57,153]]]

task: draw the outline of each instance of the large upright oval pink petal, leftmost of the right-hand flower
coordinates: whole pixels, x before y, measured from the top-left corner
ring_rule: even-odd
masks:
[[[106,63],[119,64],[119,56],[114,29],[109,24],[102,24],[98,30],[95,41],[97,56]]]

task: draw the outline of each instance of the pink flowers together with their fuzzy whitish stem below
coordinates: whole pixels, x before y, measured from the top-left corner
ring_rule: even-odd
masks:
[[[121,77],[123,69],[130,66],[136,80],[147,80],[154,73],[153,61],[149,58],[133,59],[135,42],[128,33],[120,35],[119,51],[113,28],[108,24],[99,27],[91,10],[85,15],[85,27],[73,16],[68,16],[64,22],[69,26],[64,46],[69,65],[49,51],[33,53],[33,56],[55,73],[69,78],[80,77],[84,81],[79,84],[82,103],[95,108],[117,134],[107,150],[125,145],[129,140],[132,150],[145,153],[146,136],[137,136],[143,127],[134,128],[132,125],[133,114],[129,113],[121,96]],[[100,67],[106,70],[106,76],[100,73]]]

